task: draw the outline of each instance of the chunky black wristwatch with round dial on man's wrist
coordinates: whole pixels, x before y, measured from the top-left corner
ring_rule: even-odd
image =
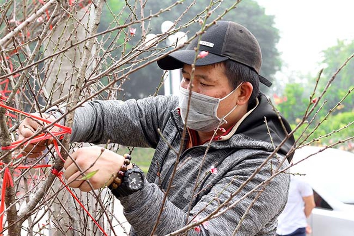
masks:
[[[144,172],[136,164],[133,164],[133,168],[124,173],[122,183],[118,188],[113,189],[109,186],[109,189],[115,197],[125,197],[133,192],[141,190],[143,187]]]

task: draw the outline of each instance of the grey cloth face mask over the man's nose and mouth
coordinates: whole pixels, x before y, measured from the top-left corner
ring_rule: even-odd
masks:
[[[241,83],[242,84],[242,83]],[[238,89],[241,84],[237,86]],[[220,101],[226,99],[230,96],[236,89],[232,90],[228,95],[219,99],[216,97],[210,97],[204,94],[199,94],[192,91],[190,96],[189,112],[187,118],[187,127],[201,132],[210,132],[217,129],[219,126],[226,124],[225,118],[234,111],[237,107],[231,109],[225,116],[219,118],[217,116],[217,110]],[[179,108],[181,109],[181,116],[183,122],[185,122],[185,117],[187,116],[189,100],[189,91],[182,87],[179,88]]]

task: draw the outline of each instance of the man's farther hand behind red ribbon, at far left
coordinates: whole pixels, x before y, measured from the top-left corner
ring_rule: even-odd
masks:
[[[32,113],[34,116],[40,116],[39,113]],[[53,117],[47,117],[48,115],[42,113],[42,116],[46,119],[48,119],[49,121],[54,121],[55,118]],[[18,127],[18,140],[23,140],[25,138],[28,138],[30,136],[32,136],[36,130],[38,129],[42,129],[43,126],[41,125],[41,121],[36,121],[34,120],[33,118],[25,118],[21,124],[19,125]],[[44,125],[47,125],[47,124],[44,124]],[[58,127],[52,127],[50,129],[50,131],[58,131],[59,128]],[[47,140],[43,140],[43,141],[40,141],[36,144],[28,144],[26,145],[26,147],[24,148],[22,154],[24,156],[27,156],[27,157],[32,157],[32,158],[35,158],[35,157],[39,157],[43,154],[43,151],[45,150],[46,146],[45,144],[51,144],[53,139],[47,139]]]

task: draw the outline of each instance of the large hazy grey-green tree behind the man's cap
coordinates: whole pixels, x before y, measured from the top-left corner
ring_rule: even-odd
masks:
[[[132,1],[127,1],[133,5]],[[151,13],[156,13],[160,9],[165,9],[166,7],[175,3],[175,0],[149,0],[145,4],[144,16],[148,16]],[[107,5],[110,7],[114,16],[119,18],[119,14],[123,14],[124,17],[120,17],[119,22],[124,23],[125,20],[132,17],[129,15],[129,7],[125,7],[122,13],[119,13],[125,6],[125,2],[117,2],[114,0],[108,0]],[[161,33],[161,24],[164,21],[175,21],[181,14],[185,11],[186,7],[192,3],[192,0],[186,0],[183,4],[179,4],[171,9],[169,12],[161,14],[159,17],[152,18],[151,21],[145,22],[145,29],[148,28],[148,33],[159,34]],[[212,9],[215,11],[212,13],[210,19],[216,18],[218,15],[222,14],[225,9],[234,4],[233,0],[224,0],[220,7]],[[205,11],[208,6],[208,2],[198,2],[194,4],[185,15],[178,21],[177,27],[193,19],[195,15],[200,14]],[[100,30],[107,29],[112,22],[114,22],[114,17],[110,13],[109,7],[106,6],[104,9],[104,17],[100,24]],[[133,6],[131,6],[133,7]],[[140,9],[137,10],[139,12]],[[210,20],[210,21],[211,21]],[[276,71],[281,67],[281,60],[278,50],[276,49],[276,44],[279,41],[279,31],[274,27],[274,16],[265,15],[264,8],[259,6],[256,1],[241,1],[237,5],[236,9],[228,12],[223,20],[230,20],[238,22],[247,27],[258,39],[259,44],[262,48],[263,64],[261,68],[261,74],[270,80],[272,80]],[[208,23],[210,23],[208,21]],[[115,23],[113,23],[115,24]],[[131,39],[130,45],[135,45],[142,37],[141,25],[134,25],[137,28],[136,35]],[[200,24],[198,22],[192,23],[188,28],[182,29],[181,31],[187,33],[190,37],[194,33],[200,30]],[[127,45],[128,47],[130,45]],[[163,45],[165,46],[165,45]],[[119,52],[117,51],[117,54]],[[158,85],[161,77],[162,70],[158,68],[156,63],[150,64],[139,71],[130,75],[130,80],[128,80],[124,87],[126,91],[126,99],[128,98],[142,98],[154,94],[156,91],[156,86]],[[263,92],[267,93],[268,88],[261,85]],[[163,94],[163,88],[161,88],[159,94]]]

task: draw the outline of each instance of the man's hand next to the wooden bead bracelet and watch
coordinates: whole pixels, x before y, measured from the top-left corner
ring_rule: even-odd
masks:
[[[68,157],[64,164],[64,177],[70,187],[79,188],[81,191],[91,191],[87,181],[90,181],[93,189],[99,189],[112,183],[124,162],[124,157],[107,149],[92,146],[82,147]],[[81,173],[80,169],[84,172]],[[128,169],[132,168],[130,164]],[[82,177],[97,170],[89,180]]]

